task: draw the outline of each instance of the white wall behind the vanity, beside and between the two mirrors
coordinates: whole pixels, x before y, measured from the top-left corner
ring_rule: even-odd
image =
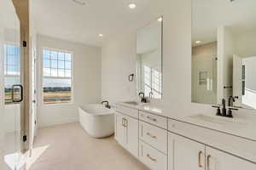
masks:
[[[164,16],[163,102],[167,115],[215,113],[210,105],[191,103],[191,1],[155,1],[152,20]],[[136,32],[113,38],[102,48],[102,99],[134,97],[136,83],[127,76],[136,67]],[[127,89],[130,89],[130,93]]]

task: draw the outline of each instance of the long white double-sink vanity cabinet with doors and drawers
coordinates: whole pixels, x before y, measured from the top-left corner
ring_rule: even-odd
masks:
[[[118,105],[115,139],[151,170],[256,170],[256,141]]]

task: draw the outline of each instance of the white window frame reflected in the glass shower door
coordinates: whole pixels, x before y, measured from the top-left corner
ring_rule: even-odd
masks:
[[[20,48],[20,56],[18,56],[19,57],[19,59],[20,59],[20,70],[19,70],[19,74],[18,75],[11,75],[11,74],[7,74],[7,70],[5,70],[6,69],[6,66],[7,65],[5,65],[5,54],[6,54],[6,51],[7,51],[7,49],[6,49],[6,46],[8,46],[8,45],[13,45],[13,46],[17,46],[18,48]],[[7,69],[8,69],[8,67],[7,67]],[[6,71],[6,74],[5,74],[5,71]],[[21,82],[22,82],[22,78],[21,78],[21,47],[20,47],[20,43],[18,43],[18,42],[9,42],[9,41],[3,41],[3,91],[4,91],[4,105],[20,105],[20,103],[14,103],[14,102],[12,102],[12,103],[6,103],[5,102],[5,77],[14,77],[14,78],[19,78],[20,79],[20,84],[21,84]]]

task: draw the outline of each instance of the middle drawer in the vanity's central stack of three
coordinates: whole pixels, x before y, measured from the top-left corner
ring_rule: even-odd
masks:
[[[139,122],[139,138],[155,149],[167,154],[167,130]]]

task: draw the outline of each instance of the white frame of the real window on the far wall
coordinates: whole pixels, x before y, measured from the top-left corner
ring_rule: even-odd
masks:
[[[49,51],[55,51],[55,52],[61,52],[61,53],[68,53],[71,54],[71,77],[50,77],[50,76],[45,76],[44,77],[44,50],[49,50]],[[41,57],[40,57],[40,77],[41,77],[41,84],[40,84],[40,94],[41,94],[41,102],[42,105],[73,105],[73,98],[74,98],[74,88],[73,88],[73,51],[69,50],[64,50],[60,48],[48,48],[48,47],[42,47],[41,48]],[[67,103],[52,103],[52,104],[45,104],[44,103],[44,78],[52,78],[52,79],[62,79],[62,80],[71,80],[71,100]]]

